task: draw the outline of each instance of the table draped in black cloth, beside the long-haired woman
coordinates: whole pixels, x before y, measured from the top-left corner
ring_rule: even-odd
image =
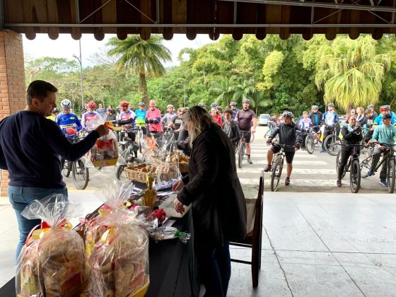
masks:
[[[141,185],[137,186],[141,187]],[[183,244],[178,238],[158,243],[150,239],[148,246],[150,286],[146,296],[199,296],[191,211],[182,219],[177,219],[173,227],[190,233],[191,238],[187,244]],[[0,288],[0,296],[16,296],[15,277]]]

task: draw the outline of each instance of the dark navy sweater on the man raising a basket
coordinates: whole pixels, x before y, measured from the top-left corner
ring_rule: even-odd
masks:
[[[62,188],[59,156],[76,161],[98,138],[94,131],[71,144],[56,122],[23,110],[0,122],[0,168],[8,170],[11,186]]]

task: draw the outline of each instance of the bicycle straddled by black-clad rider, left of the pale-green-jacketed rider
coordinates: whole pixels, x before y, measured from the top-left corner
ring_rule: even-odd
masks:
[[[342,172],[341,178],[349,172],[349,186],[351,187],[352,193],[359,192],[360,184],[361,184],[361,170],[359,163],[359,151],[358,148],[363,146],[362,144],[342,144],[342,146],[352,147],[351,156],[349,156],[347,165],[344,167],[344,171]],[[335,168],[338,173],[339,165],[341,165],[341,154],[342,151],[337,153],[337,158],[335,161]]]

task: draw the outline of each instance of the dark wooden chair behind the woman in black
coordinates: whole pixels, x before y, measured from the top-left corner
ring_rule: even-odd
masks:
[[[264,171],[262,171],[259,183],[259,192],[255,205],[255,221],[253,230],[246,235],[245,240],[240,242],[231,242],[230,245],[236,245],[243,248],[252,249],[252,260],[243,261],[231,259],[231,262],[250,264],[252,266],[252,285],[253,288],[258,286],[259,272],[261,268],[261,246],[262,246],[262,205],[264,194]]]

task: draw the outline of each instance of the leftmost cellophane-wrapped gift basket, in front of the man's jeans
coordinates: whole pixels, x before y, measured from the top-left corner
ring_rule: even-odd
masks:
[[[28,236],[16,267],[16,295],[79,296],[86,288],[83,238],[67,221],[81,208],[56,194],[27,206],[22,215],[45,224]]]

